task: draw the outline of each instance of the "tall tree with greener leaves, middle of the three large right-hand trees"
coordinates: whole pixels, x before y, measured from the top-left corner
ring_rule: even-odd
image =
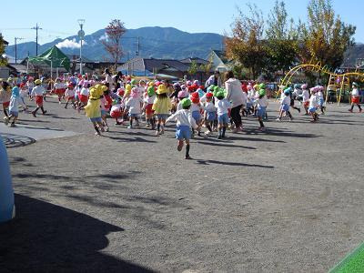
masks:
[[[293,19],[288,24],[288,14],[283,1],[276,3],[268,15],[266,46],[269,73],[287,71],[298,60],[298,34]]]

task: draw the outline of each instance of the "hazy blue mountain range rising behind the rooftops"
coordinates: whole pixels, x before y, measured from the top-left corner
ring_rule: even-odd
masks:
[[[139,39],[137,38],[139,37]],[[106,39],[105,29],[85,36],[85,45],[82,46],[82,56],[96,61],[105,61],[109,58],[101,43]],[[211,49],[221,49],[224,37],[213,33],[190,34],[173,27],[141,27],[128,29],[122,38],[125,56],[122,61],[136,56],[139,41],[139,56],[154,58],[183,59],[191,56],[207,58]],[[79,39],[73,35],[65,39],[56,39],[45,45],[38,45],[38,54],[45,52],[49,47],[57,45],[66,55],[79,55]],[[15,46],[6,47],[6,55],[15,56]],[[35,42],[17,45],[18,59],[27,55],[35,56]]]

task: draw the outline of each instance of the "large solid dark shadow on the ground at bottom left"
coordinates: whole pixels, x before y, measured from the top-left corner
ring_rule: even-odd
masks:
[[[0,225],[2,272],[153,272],[100,252],[121,227],[22,195],[15,206],[15,219]]]

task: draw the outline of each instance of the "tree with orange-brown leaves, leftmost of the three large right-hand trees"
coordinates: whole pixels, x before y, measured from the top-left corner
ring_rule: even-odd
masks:
[[[227,57],[237,60],[257,78],[266,61],[263,41],[264,19],[256,5],[248,5],[248,15],[238,9],[239,15],[232,24],[232,35],[225,40]]]

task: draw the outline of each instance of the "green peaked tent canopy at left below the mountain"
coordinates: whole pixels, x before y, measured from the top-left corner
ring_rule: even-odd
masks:
[[[46,64],[48,66],[51,66],[52,63],[52,67],[65,67],[67,71],[69,71],[70,68],[69,58],[59,50],[56,45],[52,46],[39,56],[29,57],[29,63],[35,65]]]

